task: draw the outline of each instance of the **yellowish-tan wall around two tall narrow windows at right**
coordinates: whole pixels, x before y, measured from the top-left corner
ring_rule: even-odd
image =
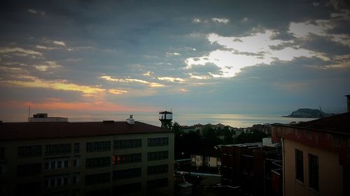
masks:
[[[311,146],[284,140],[284,176],[285,194],[318,195],[317,191],[309,188],[309,158],[308,154],[318,156],[319,195],[343,194],[343,167],[339,165],[339,156],[335,152],[316,149]],[[303,152],[304,183],[295,179],[295,149]]]

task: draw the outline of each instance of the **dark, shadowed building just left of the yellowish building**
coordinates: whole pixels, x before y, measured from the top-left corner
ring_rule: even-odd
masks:
[[[221,146],[222,183],[250,195],[281,195],[281,165],[277,148],[262,142]]]

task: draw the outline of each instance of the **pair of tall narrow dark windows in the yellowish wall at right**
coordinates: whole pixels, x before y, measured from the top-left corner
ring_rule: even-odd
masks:
[[[309,187],[318,190],[318,156],[308,154],[309,159]],[[303,152],[295,149],[295,179],[304,182]]]

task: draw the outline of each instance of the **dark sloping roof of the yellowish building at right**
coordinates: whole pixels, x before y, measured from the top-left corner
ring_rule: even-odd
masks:
[[[293,125],[274,124],[273,126],[288,126],[293,128],[304,128],[328,133],[350,134],[350,112],[334,116],[296,123]]]

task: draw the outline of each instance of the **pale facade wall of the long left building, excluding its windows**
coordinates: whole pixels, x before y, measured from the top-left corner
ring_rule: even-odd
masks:
[[[50,130],[48,130],[50,131]],[[73,131],[73,130],[72,130]],[[168,137],[169,144],[167,146],[148,146],[148,138]],[[132,149],[113,149],[113,140],[128,140],[141,139],[141,147]],[[111,150],[109,151],[93,151],[87,152],[87,142],[110,141]],[[74,153],[74,144],[80,144],[80,151]],[[71,153],[59,154],[56,156],[45,156],[45,145],[47,144],[71,144]],[[41,156],[35,157],[18,157],[19,146],[41,145]],[[0,195],[16,195],[16,189],[21,187],[21,184],[30,182],[38,182],[41,184],[41,190],[36,195],[46,195],[51,193],[67,193],[68,195],[85,195],[85,193],[99,193],[98,190],[106,190],[112,194],[113,186],[123,186],[130,183],[141,183],[141,191],[149,194],[172,195],[174,184],[174,133],[148,133],[148,134],[130,134],[130,135],[106,135],[97,137],[71,137],[71,138],[55,138],[41,140],[11,140],[1,141],[0,148],[3,150],[3,158],[0,158],[0,165],[3,167],[0,174]],[[148,161],[148,152],[168,151],[168,158],[164,160]],[[141,153],[141,162],[126,163],[121,165],[113,165],[113,156]],[[109,157],[111,163],[106,167],[87,168],[87,158]],[[78,165],[73,167],[74,159],[78,160]],[[57,160],[69,160],[67,168],[61,169],[45,169],[45,162],[55,162]],[[41,164],[40,174],[29,176],[18,176],[18,165]],[[62,162],[63,164],[64,162]],[[57,164],[57,162],[55,163]],[[148,167],[155,165],[168,165],[168,172],[162,174],[148,175]],[[113,171],[121,169],[131,169],[141,167],[141,178],[134,177],[129,179],[113,180]],[[85,176],[92,174],[109,173],[109,181],[105,183],[97,183],[94,185],[85,185]],[[58,176],[58,177],[57,177]],[[54,188],[45,188],[45,179],[52,178],[68,178],[69,183],[66,186],[58,186]],[[73,183],[73,176],[77,177],[77,182]],[[149,189],[147,188],[148,181],[156,179],[167,179],[167,186],[162,188]],[[50,181],[50,180],[49,180]],[[57,181],[55,182],[57,183]],[[153,183],[156,184],[156,183]],[[23,185],[25,186],[25,185]],[[19,193],[19,192],[18,192]],[[140,192],[139,192],[140,193]],[[118,195],[118,193],[115,193]],[[30,195],[30,194],[29,194]]]

